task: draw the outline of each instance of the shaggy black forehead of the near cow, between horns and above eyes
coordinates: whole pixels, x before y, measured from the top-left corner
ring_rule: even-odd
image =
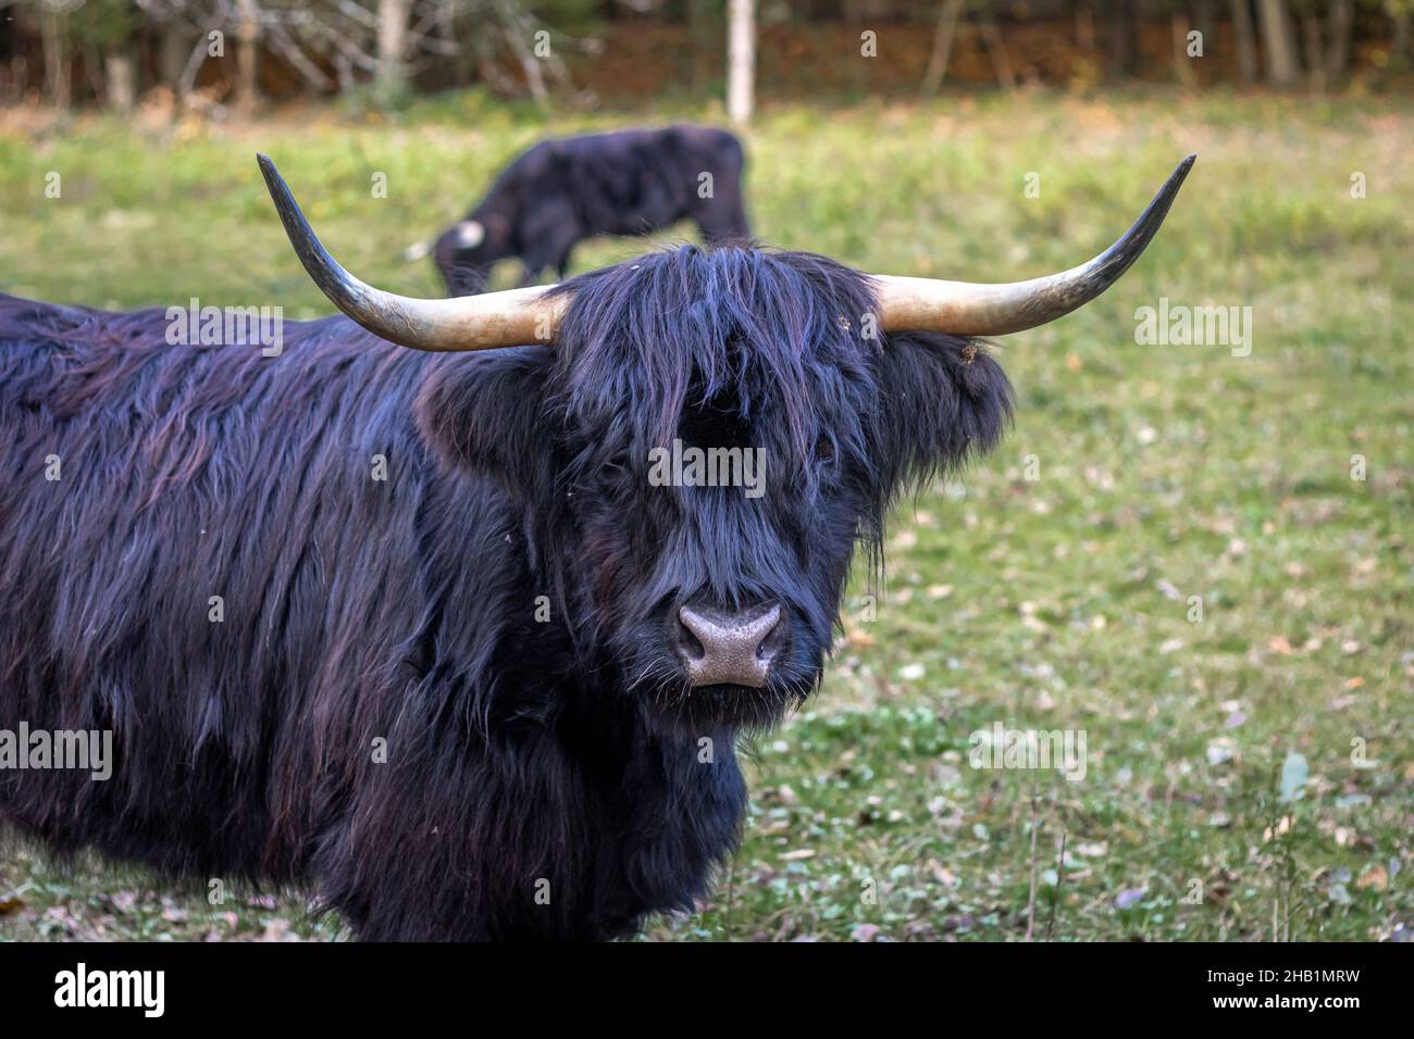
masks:
[[[656,434],[706,409],[799,435],[871,404],[874,300],[826,257],[683,246],[564,291],[559,390],[591,425]]]

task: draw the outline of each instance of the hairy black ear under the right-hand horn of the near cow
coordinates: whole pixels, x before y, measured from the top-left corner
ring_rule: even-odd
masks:
[[[976,341],[891,335],[878,365],[874,462],[885,496],[991,451],[1011,421],[1011,383]]]

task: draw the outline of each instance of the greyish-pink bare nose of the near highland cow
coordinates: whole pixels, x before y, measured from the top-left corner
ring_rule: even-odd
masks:
[[[742,612],[683,606],[673,649],[693,686],[766,684],[781,649],[781,606],[768,602]]]

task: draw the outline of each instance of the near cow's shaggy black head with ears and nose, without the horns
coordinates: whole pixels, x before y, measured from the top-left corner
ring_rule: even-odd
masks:
[[[684,247],[570,283],[557,346],[447,366],[420,418],[534,513],[587,666],[656,724],[765,725],[819,683],[857,541],[1010,409],[970,342],[870,338],[819,257]]]

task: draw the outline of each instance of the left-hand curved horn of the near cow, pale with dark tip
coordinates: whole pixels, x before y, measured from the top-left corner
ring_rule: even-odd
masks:
[[[300,263],[335,307],[373,335],[419,351],[489,351],[554,339],[570,297],[547,295],[550,287],[414,300],[359,281],[320,245],[274,163],[257,158]]]

